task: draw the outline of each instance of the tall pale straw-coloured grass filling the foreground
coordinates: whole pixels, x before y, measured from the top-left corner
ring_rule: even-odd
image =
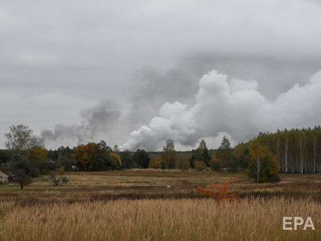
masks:
[[[143,199],[23,206],[0,203],[0,240],[320,240],[312,199]],[[283,216],[311,216],[315,231],[283,231]]]

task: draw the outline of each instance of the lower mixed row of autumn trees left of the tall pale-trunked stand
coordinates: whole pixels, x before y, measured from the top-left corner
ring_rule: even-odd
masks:
[[[15,175],[15,179],[25,174],[37,177],[51,171],[83,170],[103,171],[123,168],[161,168],[180,170],[222,170],[237,171],[248,166],[247,158],[236,158],[229,140],[224,136],[218,150],[209,150],[204,140],[196,150],[176,152],[172,139],[166,140],[162,152],[153,154],[144,149],[135,152],[119,150],[118,146],[110,148],[105,141],[87,143],[73,148],[61,146],[56,150],[46,150],[37,145],[33,131],[24,125],[12,125],[6,136],[6,150],[0,150],[1,170]],[[243,153],[244,154],[244,153]]]

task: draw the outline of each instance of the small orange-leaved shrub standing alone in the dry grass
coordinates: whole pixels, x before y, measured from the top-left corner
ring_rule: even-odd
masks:
[[[211,188],[202,188],[201,186],[198,186],[196,193],[216,199],[218,204],[225,201],[232,202],[238,196],[236,193],[231,192],[233,189],[232,182],[235,180],[236,179],[232,177],[223,181],[222,184],[217,184],[216,178],[212,178]]]

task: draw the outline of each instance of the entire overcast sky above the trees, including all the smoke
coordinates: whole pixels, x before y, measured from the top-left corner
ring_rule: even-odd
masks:
[[[3,0],[0,145],[17,124],[131,150],[320,125],[320,22],[316,0]]]

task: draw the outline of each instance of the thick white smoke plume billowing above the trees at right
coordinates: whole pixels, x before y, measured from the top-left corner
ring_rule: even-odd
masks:
[[[308,83],[295,84],[268,100],[260,93],[257,81],[227,81],[227,75],[213,70],[200,78],[195,105],[189,108],[181,102],[166,102],[159,116],[130,134],[123,148],[160,150],[169,138],[193,148],[199,139],[215,139],[222,133],[237,143],[259,132],[313,127],[320,125],[320,93],[321,71],[312,75]]]

